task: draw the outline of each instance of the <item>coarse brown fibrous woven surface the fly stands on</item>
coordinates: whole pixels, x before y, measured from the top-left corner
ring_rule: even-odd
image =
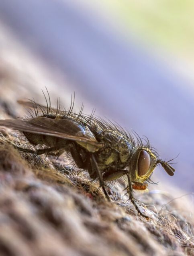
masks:
[[[0,76],[0,118],[13,118],[22,87],[5,68]],[[178,199],[147,194],[145,219],[122,189],[110,188],[115,200],[106,202],[98,183],[68,169],[62,157],[19,152],[14,146],[25,145],[20,135],[0,132],[0,255],[194,255],[194,221],[187,209],[178,210]]]

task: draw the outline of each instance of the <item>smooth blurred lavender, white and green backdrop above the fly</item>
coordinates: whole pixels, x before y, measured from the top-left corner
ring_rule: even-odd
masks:
[[[192,0],[1,0],[1,98],[43,102],[47,86],[68,107],[75,91],[77,110],[147,136],[162,159],[180,153],[153,181],[192,192],[193,17]]]

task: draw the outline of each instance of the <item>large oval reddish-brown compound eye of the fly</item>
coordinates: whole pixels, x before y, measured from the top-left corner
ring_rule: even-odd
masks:
[[[139,153],[137,171],[139,176],[144,176],[149,171],[151,164],[150,155],[147,151],[141,150]]]

